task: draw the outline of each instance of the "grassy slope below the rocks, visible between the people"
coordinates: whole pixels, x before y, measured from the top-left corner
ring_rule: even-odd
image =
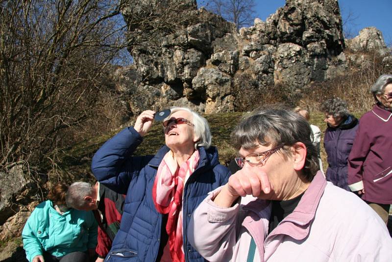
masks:
[[[220,161],[222,164],[228,164],[228,162],[236,156],[237,152],[230,143],[230,133],[241,121],[244,114],[245,113],[242,112],[232,112],[205,116],[211,127],[212,145],[218,147]],[[356,117],[360,117],[361,113],[354,113],[354,115]],[[323,133],[326,129],[326,124],[323,122],[323,119],[323,113],[319,111],[311,112],[310,123],[320,128],[322,131],[322,139],[324,136]],[[68,181],[93,181],[94,178],[90,170],[92,156],[107,139],[120,130],[121,128],[105,135],[90,137],[80,143],[66,148],[61,154],[59,154],[59,161],[57,164],[57,167],[62,170],[61,176]],[[326,169],[326,154],[322,141],[323,140],[321,140],[321,158],[323,160],[324,169]],[[151,130],[145,136],[143,143],[136,150],[135,155],[155,154],[156,151],[164,145],[164,143],[165,140],[162,124],[161,122],[154,122]]]

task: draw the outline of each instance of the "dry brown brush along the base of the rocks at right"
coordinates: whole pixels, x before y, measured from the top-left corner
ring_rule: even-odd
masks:
[[[346,51],[347,54],[352,54]],[[382,62],[377,52],[356,52],[365,57],[360,63],[349,63],[342,75],[324,82],[315,82],[308,87],[293,90],[290,83],[258,86],[252,74],[238,73],[233,81],[233,95],[236,97],[235,110],[249,111],[259,105],[284,103],[318,110],[319,105],[328,98],[339,97],[348,102],[349,110],[362,114],[374,103],[369,90],[375,80],[382,74],[391,74],[392,68]]]

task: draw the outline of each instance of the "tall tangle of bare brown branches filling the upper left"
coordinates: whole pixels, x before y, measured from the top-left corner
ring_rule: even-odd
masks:
[[[0,1],[0,170],[53,159],[102,115],[105,74],[126,45],[125,2]]]

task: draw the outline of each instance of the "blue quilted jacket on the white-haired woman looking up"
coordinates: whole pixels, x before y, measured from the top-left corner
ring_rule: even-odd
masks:
[[[93,157],[92,170],[98,181],[126,194],[120,230],[106,262],[155,262],[157,258],[162,215],[155,210],[152,186],[158,166],[170,149],[163,146],[155,156],[133,157],[142,141],[139,133],[129,127],[106,141]],[[201,147],[199,154],[198,166],[186,182],[183,194],[183,238],[187,262],[204,262],[187,240],[191,214],[207,193],[227,183],[230,175],[229,170],[219,164],[215,147],[207,150]]]

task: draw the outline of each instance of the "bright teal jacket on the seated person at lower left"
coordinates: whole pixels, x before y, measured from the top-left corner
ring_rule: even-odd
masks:
[[[39,204],[23,228],[23,248],[28,261],[43,251],[62,257],[97,246],[98,224],[92,211],[58,213],[50,200]]]

